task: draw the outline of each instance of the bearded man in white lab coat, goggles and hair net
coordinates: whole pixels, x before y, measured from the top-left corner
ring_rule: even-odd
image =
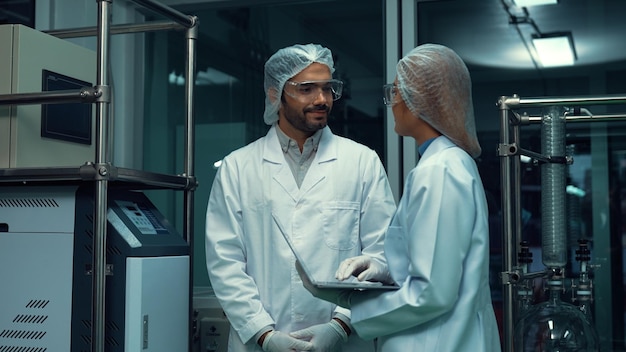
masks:
[[[294,45],[265,64],[269,132],[224,158],[206,216],[211,286],[231,324],[229,351],[374,351],[350,311],[313,297],[273,221],[321,278],[367,254],[385,267],[395,202],[378,155],[327,127],[342,82],[330,50]]]

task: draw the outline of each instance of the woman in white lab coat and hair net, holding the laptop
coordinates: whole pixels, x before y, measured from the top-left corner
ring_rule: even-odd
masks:
[[[380,351],[500,351],[469,72],[451,49],[421,45],[398,63],[385,100],[395,131],[413,137],[420,152],[385,237],[389,274],[401,288],[380,294],[305,286],[351,308],[355,331],[378,337]],[[369,262],[347,259],[337,277],[388,280]]]

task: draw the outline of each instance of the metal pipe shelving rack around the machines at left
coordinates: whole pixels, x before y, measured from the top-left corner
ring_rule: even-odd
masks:
[[[84,87],[79,91],[34,92],[0,95],[0,105],[43,104],[43,103],[92,103],[96,106],[96,152],[95,161],[77,167],[59,168],[13,168],[0,169],[0,185],[28,183],[94,183],[94,238],[93,238],[93,302],[92,340],[93,352],[105,351],[105,277],[106,277],[106,228],[109,186],[129,189],[173,189],[184,192],[183,237],[189,243],[190,256],[193,256],[193,204],[197,186],[194,177],[194,77],[196,60],[196,39],[198,20],[153,0],[126,0],[152,10],[168,21],[153,23],[126,24],[112,26],[110,14],[112,0],[96,0],[98,22],[93,28],[49,31],[59,38],[97,36],[97,75],[94,87]],[[187,40],[185,64],[185,165],[181,175],[167,175],[118,168],[110,162],[108,155],[111,89],[109,86],[109,38],[111,34],[139,33],[159,30],[185,29]],[[190,258],[193,266],[193,259]],[[191,320],[191,294],[193,292],[193,270],[190,268],[189,313]],[[191,327],[191,325],[190,325]],[[191,334],[189,335],[191,350]]]

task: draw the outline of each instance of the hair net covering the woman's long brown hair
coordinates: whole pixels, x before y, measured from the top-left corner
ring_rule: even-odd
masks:
[[[424,44],[406,54],[396,70],[400,95],[411,113],[478,157],[472,81],[463,60],[448,47]]]

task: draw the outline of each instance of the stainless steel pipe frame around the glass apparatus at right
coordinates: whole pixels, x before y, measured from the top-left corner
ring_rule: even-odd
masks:
[[[544,106],[576,106],[624,104],[626,95],[586,96],[586,97],[543,97],[521,98],[517,95],[502,96],[497,106],[500,112],[500,143],[498,156],[500,162],[500,180],[502,189],[502,284],[503,284],[503,350],[513,350],[514,329],[514,290],[513,284],[519,281],[523,274],[516,263],[518,243],[521,240],[521,181],[520,156],[530,152],[520,147],[520,126],[523,124],[541,122],[541,117],[521,116],[515,113],[519,108]],[[624,118],[626,115],[582,115],[566,116],[567,121],[607,121],[615,118]],[[535,155],[533,155],[535,156]],[[537,273],[544,275],[546,272]]]

